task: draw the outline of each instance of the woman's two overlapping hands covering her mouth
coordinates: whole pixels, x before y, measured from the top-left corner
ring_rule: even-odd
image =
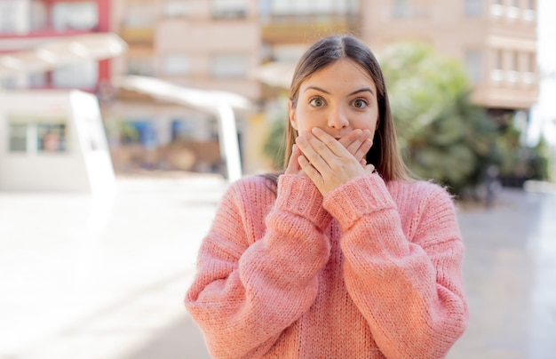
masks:
[[[375,167],[365,161],[371,145],[369,130],[354,130],[336,140],[315,127],[311,133],[302,132],[298,137],[290,164],[294,156],[297,156],[296,153],[299,153],[299,167],[313,180],[322,195],[327,195],[348,180],[374,171]]]

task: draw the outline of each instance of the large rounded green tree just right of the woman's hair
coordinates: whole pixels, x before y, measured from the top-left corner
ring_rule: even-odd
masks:
[[[469,98],[461,63],[427,44],[394,44],[380,58],[409,168],[456,194],[477,187],[499,160],[496,124]]]

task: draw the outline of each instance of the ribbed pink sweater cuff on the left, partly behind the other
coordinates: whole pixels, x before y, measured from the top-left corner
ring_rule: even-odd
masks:
[[[322,195],[306,177],[282,174],[278,178],[275,207],[310,220],[321,231],[330,223],[330,213],[322,208]]]

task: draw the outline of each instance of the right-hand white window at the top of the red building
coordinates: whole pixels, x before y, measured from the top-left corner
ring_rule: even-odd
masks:
[[[91,30],[99,25],[99,8],[94,2],[54,3],[52,22],[59,31]]]

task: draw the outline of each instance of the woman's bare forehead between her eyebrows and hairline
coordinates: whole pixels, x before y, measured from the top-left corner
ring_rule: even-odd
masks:
[[[361,86],[370,86],[372,89],[376,89],[369,71],[356,61],[346,58],[315,71],[313,75],[308,76],[302,82],[301,89],[303,91],[303,88],[312,85],[328,86],[332,89],[336,87],[358,88]]]

